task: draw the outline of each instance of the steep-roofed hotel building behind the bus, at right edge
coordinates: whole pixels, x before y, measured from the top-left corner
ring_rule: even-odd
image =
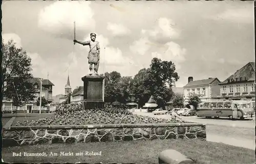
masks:
[[[255,63],[249,62],[220,85],[220,100],[249,100],[255,107]]]

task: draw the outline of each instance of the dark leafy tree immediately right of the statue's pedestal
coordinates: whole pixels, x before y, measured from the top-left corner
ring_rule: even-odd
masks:
[[[105,73],[105,87],[104,87],[104,101],[106,103],[113,103],[115,100],[119,100],[120,93],[120,79],[121,74],[113,71],[111,73]]]

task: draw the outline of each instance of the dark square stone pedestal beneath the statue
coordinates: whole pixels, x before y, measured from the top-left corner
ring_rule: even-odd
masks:
[[[86,75],[82,77],[83,110],[93,108],[104,108],[103,79],[104,77],[99,75]]]

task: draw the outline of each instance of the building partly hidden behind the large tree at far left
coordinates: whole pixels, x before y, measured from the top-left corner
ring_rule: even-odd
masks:
[[[34,85],[35,88],[35,98],[31,102],[23,102],[22,107],[14,107],[12,105],[12,100],[7,100],[3,98],[2,111],[13,113],[14,110],[17,110],[17,113],[38,113],[39,107],[36,105],[37,99],[40,97],[40,78],[33,77],[30,79],[30,82]],[[49,79],[42,79],[42,89],[41,96],[45,97],[49,103],[53,101],[52,97],[52,87],[54,84]],[[46,113],[44,107],[41,108],[41,113]]]

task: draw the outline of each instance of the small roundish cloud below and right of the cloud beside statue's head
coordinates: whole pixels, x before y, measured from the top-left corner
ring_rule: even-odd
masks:
[[[135,54],[144,55],[145,52],[150,49],[150,41],[147,37],[142,37],[139,40],[135,40],[130,46],[130,50]]]

